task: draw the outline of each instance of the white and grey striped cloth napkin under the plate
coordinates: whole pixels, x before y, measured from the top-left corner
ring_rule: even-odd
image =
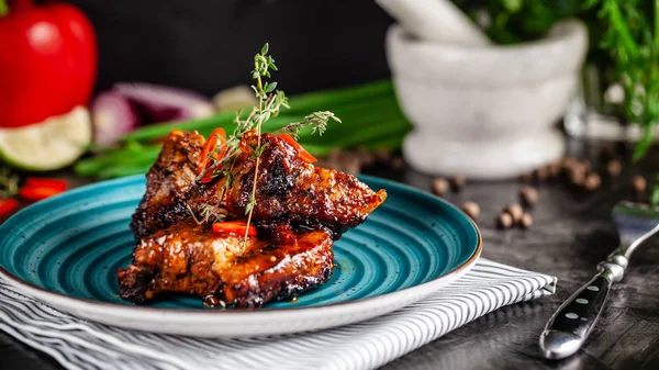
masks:
[[[556,278],[487,259],[432,296],[334,329],[198,339],[86,322],[0,281],[0,329],[67,369],[376,369],[507,304],[554,293]]]

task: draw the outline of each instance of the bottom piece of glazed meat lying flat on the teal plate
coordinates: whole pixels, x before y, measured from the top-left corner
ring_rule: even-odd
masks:
[[[133,264],[118,272],[121,296],[144,303],[161,293],[180,292],[234,307],[259,307],[297,296],[330,280],[334,269],[332,237],[324,231],[273,244],[252,236],[214,234],[183,222],[142,239]]]

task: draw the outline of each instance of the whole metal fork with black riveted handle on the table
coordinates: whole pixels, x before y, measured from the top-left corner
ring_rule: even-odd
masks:
[[[551,316],[540,335],[540,349],[548,359],[576,354],[602,313],[614,282],[625,274],[634,250],[659,231],[659,209],[621,202],[613,209],[621,246],[597,265],[597,273],[570,296]]]

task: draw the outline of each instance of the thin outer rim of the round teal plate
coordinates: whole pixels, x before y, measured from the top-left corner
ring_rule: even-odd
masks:
[[[423,282],[423,283],[420,283],[416,285],[396,290],[393,292],[375,295],[375,296],[361,298],[361,299],[346,301],[346,302],[331,303],[331,304],[326,304],[326,305],[304,306],[304,307],[286,307],[286,309],[267,309],[267,307],[263,309],[261,307],[261,309],[253,309],[253,310],[208,310],[208,309],[180,310],[180,309],[169,309],[169,307],[124,305],[124,304],[102,302],[102,301],[97,301],[97,300],[91,300],[91,299],[74,298],[74,296],[70,296],[70,295],[67,295],[64,293],[51,291],[51,290],[37,287],[31,282],[24,281],[18,277],[15,277],[14,274],[12,274],[8,270],[5,270],[4,267],[2,267],[2,266],[0,266],[0,277],[4,278],[7,280],[7,282],[9,282],[14,288],[19,289],[20,292],[23,292],[26,295],[30,295],[32,298],[35,298],[41,303],[44,303],[46,305],[54,305],[54,304],[44,300],[42,296],[47,296],[47,298],[51,298],[52,301],[58,302],[57,306],[59,306],[59,302],[62,302],[62,305],[66,305],[69,307],[76,307],[76,306],[82,305],[83,311],[94,311],[97,314],[101,314],[101,315],[104,312],[108,312],[105,310],[110,310],[110,311],[112,311],[113,316],[122,315],[122,314],[126,314],[126,315],[131,315],[131,316],[148,315],[148,314],[150,314],[150,315],[157,314],[157,315],[166,315],[166,316],[176,315],[177,319],[196,322],[197,319],[208,319],[209,316],[213,316],[214,318],[217,318],[219,315],[223,315],[226,317],[249,315],[250,317],[257,318],[257,316],[264,316],[264,317],[271,316],[273,313],[276,313],[277,315],[281,315],[281,316],[283,316],[283,315],[310,316],[310,315],[315,315],[316,313],[321,313],[321,312],[331,314],[334,311],[338,311],[337,313],[339,313],[342,310],[359,309],[360,306],[368,306],[368,305],[371,305],[372,303],[378,303],[379,301],[386,302],[386,301],[394,300],[394,299],[398,299],[399,296],[404,296],[405,294],[410,294],[415,291],[433,292],[433,291],[436,291],[439,288],[444,287],[445,282],[447,280],[454,281],[458,277],[466,273],[476,264],[476,261],[480,258],[481,253],[482,253],[482,235],[481,235],[480,228],[478,227],[478,225],[471,217],[469,217],[467,214],[465,214],[465,212],[462,212],[460,209],[458,209],[454,204],[449,203],[448,201],[446,201],[442,198],[438,198],[431,193],[426,193],[423,190],[411,187],[406,183],[402,183],[402,182],[398,182],[398,181],[393,181],[390,179],[384,179],[384,178],[380,178],[380,177],[376,177],[376,176],[369,176],[369,175],[359,175],[357,177],[360,180],[366,180],[366,181],[372,180],[376,182],[381,182],[388,187],[403,188],[404,190],[412,191],[414,193],[422,193],[423,195],[431,197],[431,198],[435,199],[436,201],[439,201],[440,203],[443,203],[445,206],[448,206],[449,209],[457,211],[458,214],[461,214],[465,217],[465,220],[468,221],[468,223],[471,225],[471,227],[473,227],[473,229],[477,234],[477,246],[473,249],[473,253],[471,254],[471,256],[465,262],[460,264],[459,266],[455,267],[450,271],[448,271],[435,279],[432,279],[429,281],[426,281],[426,282]],[[20,216],[21,213],[24,213],[34,206],[45,206],[48,203],[57,201],[58,199],[60,199],[63,197],[71,197],[71,195],[75,195],[76,193],[83,192],[90,188],[98,188],[99,186],[104,188],[104,187],[112,186],[115,183],[131,182],[131,181],[135,181],[137,178],[144,178],[144,175],[133,175],[133,176],[122,177],[122,178],[118,178],[118,179],[105,180],[105,181],[101,181],[101,182],[86,184],[86,186],[76,188],[74,190],[67,191],[63,194],[52,197],[52,198],[41,201],[38,203],[34,203],[34,204],[29,205],[25,209],[16,212],[14,215],[12,215],[10,218],[8,218],[2,225],[0,225],[0,231],[2,231],[2,228],[4,228],[3,226],[9,221],[11,221],[14,217]],[[85,309],[87,309],[87,310],[85,310]],[[75,311],[79,311],[79,309],[76,307]],[[67,312],[67,313],[71,314],[70,312]]]

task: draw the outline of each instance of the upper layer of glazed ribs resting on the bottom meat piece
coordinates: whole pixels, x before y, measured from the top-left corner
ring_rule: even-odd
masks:
[[[241,147],[256,147],[257,138],[254,132],[246,133]],[[289,143],[271,134],[261,135],[261,145],[265,149],[253,214],[259,235],[291,243],[300,231],[325,228],[338,238],[366,221],[387,198],[384,190],[375,192],[353,175],[308,164]],[[227,179],[221,176],[205,184],[197,183],[190,171],[200,160],[202,146],[199,135],[169,135],[147,175],[147,192],[133,216],[132,228],[138,237],[185,220],[188,210],[203,218],[202,210],[208,204],[226,210],[230,217],[245,217],[256,159],[249,153],[238,155],[232,167],[235,180],[228,190]],[[181,164],[186,173],[176,169]]]

